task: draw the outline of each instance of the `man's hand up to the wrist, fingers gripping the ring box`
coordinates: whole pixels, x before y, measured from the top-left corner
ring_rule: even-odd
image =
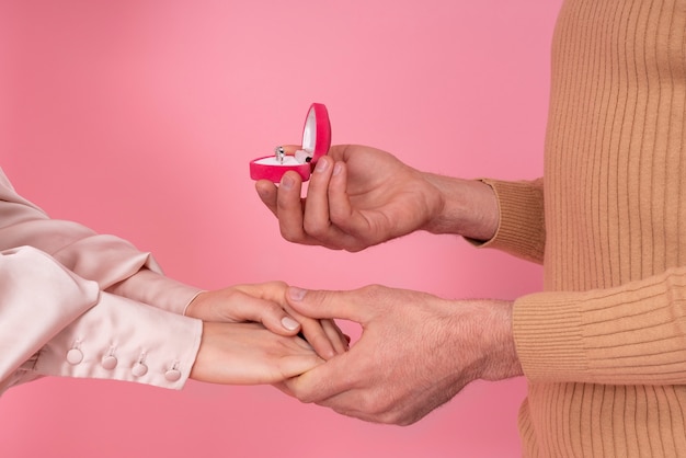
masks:
[[[305,199],[297,173],[278,187],[264,180],[255,186],[286,240],[352,252],[421,229],[443,206],[424,174],[362,146],[334,146],[320,158]]]

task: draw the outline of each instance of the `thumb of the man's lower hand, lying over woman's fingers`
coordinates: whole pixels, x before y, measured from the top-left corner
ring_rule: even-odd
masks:
[[[365,308],[355,299],[355,291],[308,290],[295,286],[288,287],[286,294],[288,305],[306,317],[363,323],[366,321]]]

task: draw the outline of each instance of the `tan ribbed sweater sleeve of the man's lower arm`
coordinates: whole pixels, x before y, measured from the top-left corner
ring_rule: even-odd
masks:
[[[514,317],[531,381],[686,383],[686,267],[607,289],[525,296]]]

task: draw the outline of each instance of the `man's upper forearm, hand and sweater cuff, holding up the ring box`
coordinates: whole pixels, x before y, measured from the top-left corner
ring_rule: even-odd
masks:
[[[426,230],[462,236],[540,262],[545,245],[542,180],[500,182],[415,170],[388,152],[334,146],[321,158],[301,199],[301,181],[256,183],[282,236],[302,244],[359,251]]]

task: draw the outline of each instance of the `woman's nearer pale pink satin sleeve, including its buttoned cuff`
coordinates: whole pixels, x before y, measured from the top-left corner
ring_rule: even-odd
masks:
[[[100,290],[33,247],[0,252],[0,392],[43,376],[180,389],[202,322]]]

